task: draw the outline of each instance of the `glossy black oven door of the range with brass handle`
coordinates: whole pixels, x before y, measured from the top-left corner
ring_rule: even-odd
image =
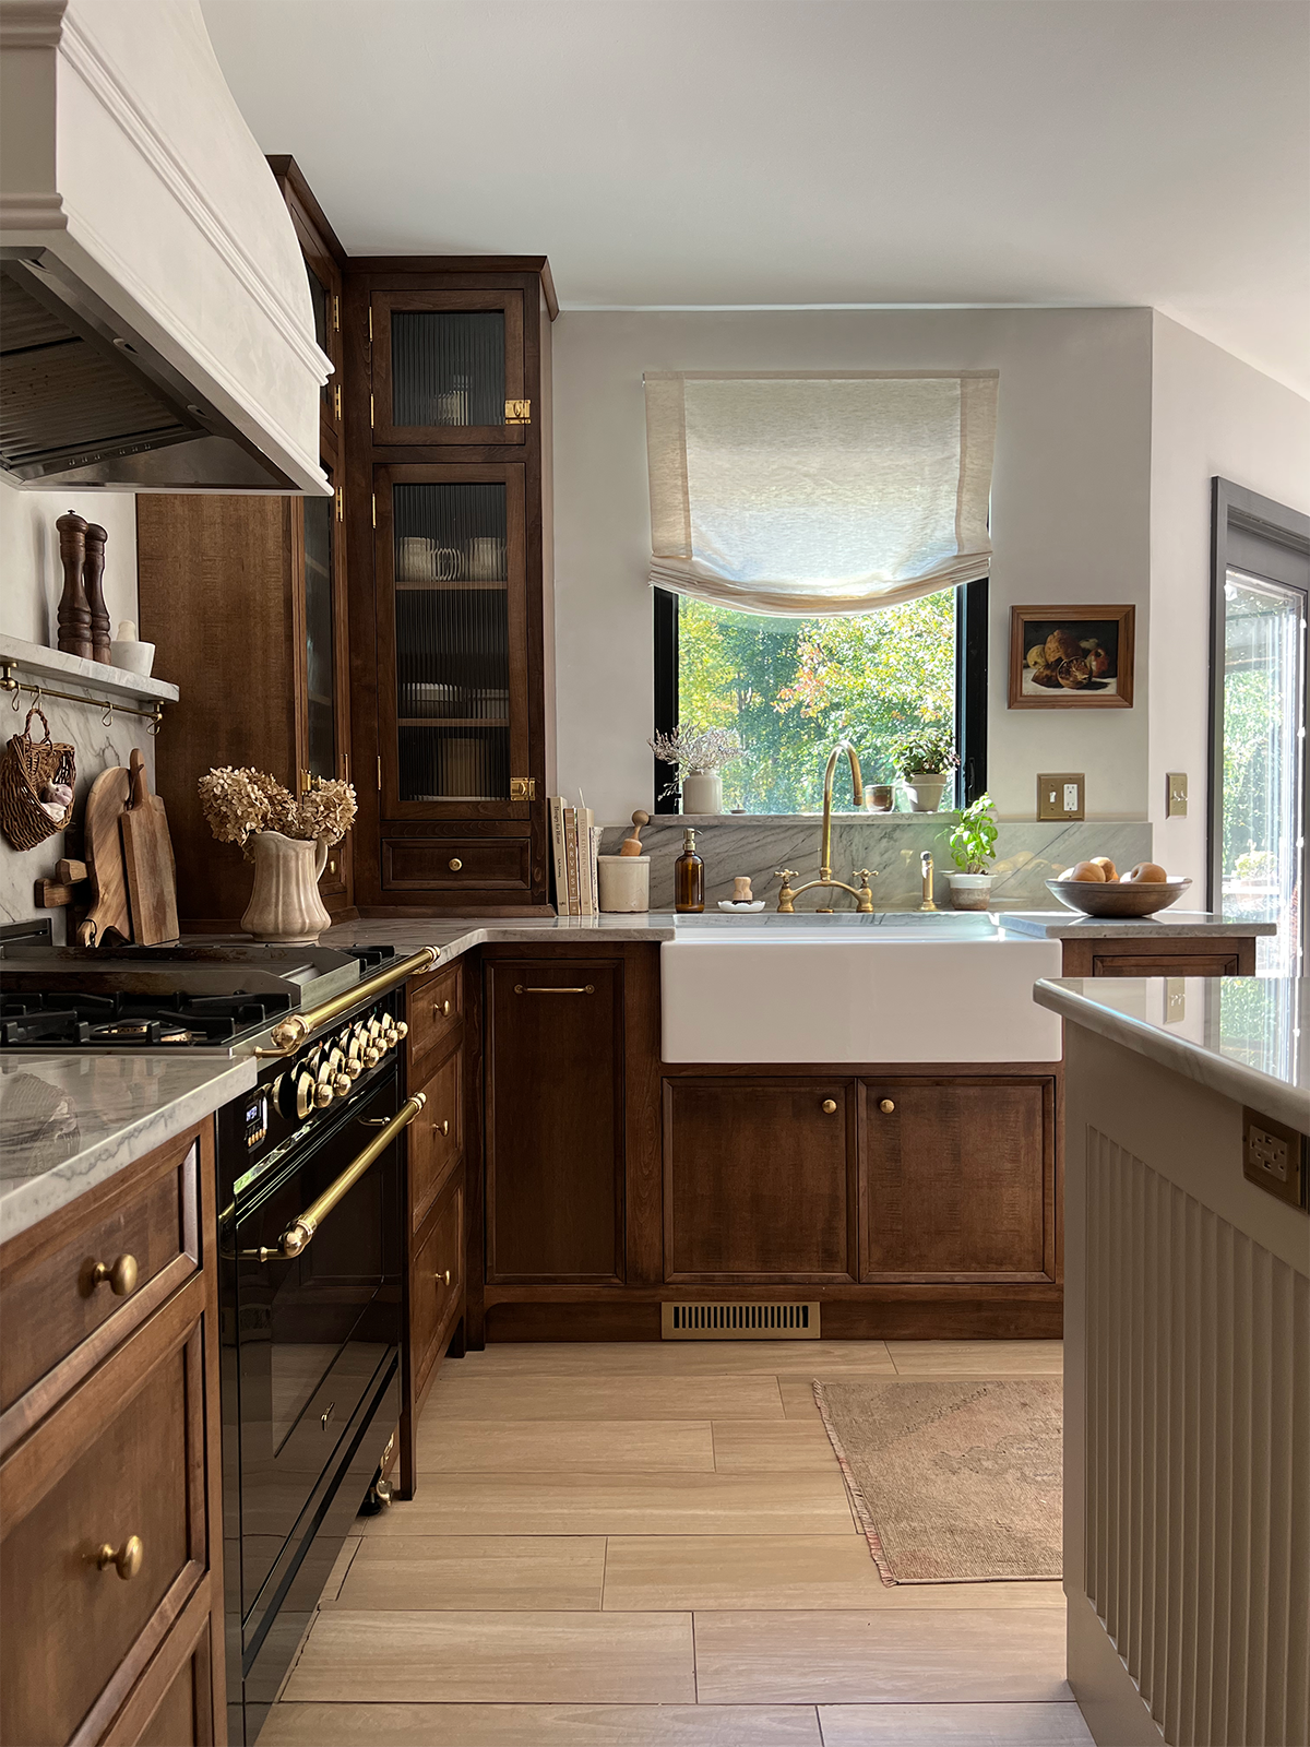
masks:
[[[390,1146],[295,1258],[300,1212],[396,1113],[395,1076],[260,1183],[236,1218],[241,1599],[248,1612],[400,1338],[398,1165]]]

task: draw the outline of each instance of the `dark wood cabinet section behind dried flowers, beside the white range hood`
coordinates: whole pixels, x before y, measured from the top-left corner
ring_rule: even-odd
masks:
[[[292,213],[318,342],[337,370],[323,390],[330,498],[152,494],[136,500],[138,618],[155,671],[182,701],[157,741],[183,931],[231,929],[252,870],[215,844],[196,784],[215,765],[255,765],[290,790],[353,777],[344,542],[341,269],[344,253],[290,159],[272,159]],[[328,851],[325,907],[353,914],[353,833]]]

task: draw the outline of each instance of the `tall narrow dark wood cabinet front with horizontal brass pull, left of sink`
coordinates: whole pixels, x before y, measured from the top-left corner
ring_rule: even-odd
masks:
[[[624,1277],[624,966],[486,966],[487,1282]]]

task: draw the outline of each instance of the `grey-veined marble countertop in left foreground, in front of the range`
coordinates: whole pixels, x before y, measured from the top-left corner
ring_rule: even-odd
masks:
[[[0,1052],[0,1244],[255,1085],[253,1057]]]

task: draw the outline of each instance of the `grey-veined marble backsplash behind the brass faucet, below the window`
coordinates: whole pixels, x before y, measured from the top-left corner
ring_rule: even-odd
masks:
[[[915,908],[922,894],[919,856],[929,849],[934,861],[933,898],[947,908],[947,875],[954,870],[947,849],[950,823],[950,814],[929,812],[833,814],[833,877],[858,886],[854,868],[877,868],[879,877],[870,882],[875,908]],[[650,851],[652,910],[672,908],[672,865],[681,854],[683,830],[688,825],[697,830],[697,847],[706,863],[706,903],[730,898],[737,874],[749,874],[755,896],[765,898],[770,908],[777,901],[777,868],[798,870],[793,886],[817,879],[823,826],[817,814],[657,814],[641,833]],[[617,854],[631,826],[608,826],[601,853]],[[1020,819],[1001,825],[996,847],[994,905],[1006,910],[1053,908],[1055,900],[1045,884],[1048,879],[1090,856],[1111,856],[1120,868],[1148,860],[1151,826],[1146,821],[1121,819],[1086,819],[1074,825]],[[798,908],[812,910],[819,898],[819,893],[809,891]],[[845,907],[852,908],[854,900],[838,891],[835,908]]]

